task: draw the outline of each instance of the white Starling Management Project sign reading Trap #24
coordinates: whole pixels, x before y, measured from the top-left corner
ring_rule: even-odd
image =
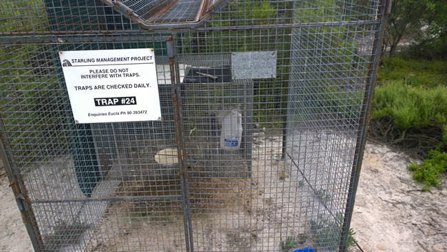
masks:
[[[161,119],[152,48],[59,51],[75,122]]]

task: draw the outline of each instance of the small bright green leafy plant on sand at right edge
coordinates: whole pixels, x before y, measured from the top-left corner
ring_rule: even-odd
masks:
[[[413,179],[415,181],[424,183],[423,190],[429,190],[432,186],[439,188],[442,174],[447,172],[447,153],[430,150],[422,165],[412,163],[408,169],[414,172]]]

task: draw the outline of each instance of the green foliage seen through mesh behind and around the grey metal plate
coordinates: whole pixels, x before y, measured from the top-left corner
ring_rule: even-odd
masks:
[[[352,12],[352,13],[351,13]],[[339,15],[345,13],[345,15]],[[297,71],[290,69],[290,50],[292,48],[290,34],[299,33],[295,36],[299,39],[301,51],[318,52],[318,57],[325,59],[325,64],[317,62],[309,55],[297,55],[299,58],[308,58],[306,72],[318,72],[320,83],[315,83],[314,87],[306,89],[312,93],[321,94],[319,99],[323,99],[322,104],[327,113],[337,114],[345,118],[358,118],[355,111],[358,111],[359,97],[362,101],[362,93],[349,93],[346,90],[334,90],[336,86],[348,86],[353,74],[358,71],[358,64],[362,62],[358,58],[358,41],[353,39],[356,34],[361,34],[354,26],[336,27],[307,27],[300,31],[290,27],[272,29],[236,30],[232,27],[248,27],[250,25],[269,24],[290,24],[293,22],[332,22],[332,21],[352,21],[349,14],[355,14],[357,19],[367,18],[358,16],[355,8],[347,10],[346,6],[334,0],[303,2],[300,8],[296,9],[290,2],[271,2],[265,0],[239,1],[237,4],[228,5],[224,11],[215,14],[212,19],[206,22],[207,27],[230,27],[219,31],[189,32],[182,34],[182,45],[184,54],[208,53],[226,54],[228,52],[239,51],[277,51],[277,73],[275,80],[255,80],[253,111],[254,122],[258,122],[262,127],[274,128],[282,126],[283,113],[287,104],[287,87],[289,86],[289,73]],[[353,15],[354,16],[354,15]],[[274,36],[272,36],[274,34]],[[363,34],[367,36],[367,32]],[[283,43],[278,43],[282,41]],[[320,43],[316,42],[320,41]],[[212,45],[212,46],[209,46]],[[334,72],[340,77],[334,81]],[[316,76],[308,76],[316,78]],[[334,95],[334,92],[337,92]],[[332,106],[332,107],[331,107]],[[301,115],[292,115],[289,121],[299,122],[305,118]]]

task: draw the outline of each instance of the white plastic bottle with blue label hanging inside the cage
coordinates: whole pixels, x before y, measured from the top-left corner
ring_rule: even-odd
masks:
[[[242,115],[233,109],[223,117],[220,146],[223,150],[238,150],[241,148]]]

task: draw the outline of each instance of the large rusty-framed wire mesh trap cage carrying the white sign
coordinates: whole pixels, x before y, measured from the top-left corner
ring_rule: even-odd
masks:
[[[344,251],[387,4],[0,1],[1,153],[34,249]],[[58,51],[142,48],[162,118],[76,123]]]

